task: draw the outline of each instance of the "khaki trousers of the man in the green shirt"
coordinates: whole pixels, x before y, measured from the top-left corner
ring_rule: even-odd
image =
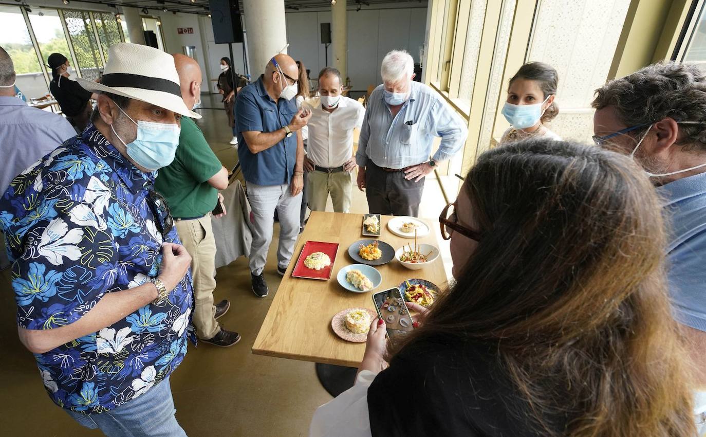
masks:
[[[193,327],[198,337],[205,340],[220,331],[213,317],[213,290],[216,287],[215,273],[216,240],[213,237],[210,213],[194,220],[175,220],[177,234],[186,251],[191,255],[193,277]]]

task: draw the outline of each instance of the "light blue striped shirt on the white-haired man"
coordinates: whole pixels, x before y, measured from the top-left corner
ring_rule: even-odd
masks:
[[[412,82],[412,92],[393,118],[383,100],[383,85],[370,95],[358,140],[356,162],[365,167],[403,169],[429,160],[435,136],[441,144],[435,161],[450,160],[465,143],[468,129],[452,107],[428,86]]]

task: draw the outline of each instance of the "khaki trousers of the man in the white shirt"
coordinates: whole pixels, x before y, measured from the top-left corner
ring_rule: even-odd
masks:
[[[351,172],[309,172],[306,174],[306,196],[309,209],[325,211],[330,193],[335,212],[348,212],[351,207],[353,174]]]

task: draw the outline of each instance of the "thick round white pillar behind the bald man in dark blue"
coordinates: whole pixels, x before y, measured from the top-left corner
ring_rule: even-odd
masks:
[[[248,67],[251,80],[257,80],[270,59],[287,45],[285,0],[244,0],[243,16],[248,30]]]

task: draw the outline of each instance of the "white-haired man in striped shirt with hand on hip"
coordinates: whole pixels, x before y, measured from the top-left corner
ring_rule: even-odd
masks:
[[[371,213],[416,217],[425,176],[461,149],[468,131],[437,92],[412,80],[409,53],[386,54],[381,75],[358,141],[358,188],[366,191]],[[442,139],[431,156],[435,136]]]

